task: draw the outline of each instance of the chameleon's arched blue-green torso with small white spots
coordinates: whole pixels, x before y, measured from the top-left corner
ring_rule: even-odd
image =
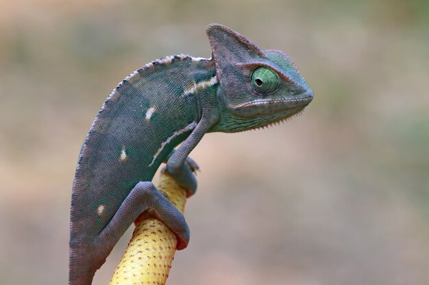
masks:
[[[198,100],[186,90],[213,74],[212,62],[176,55],[143,66],[113,90],[79,155],[71,244],[95,239],[131,189],[139,181],[150,181],[171,150],[186,139],[199,116]]]

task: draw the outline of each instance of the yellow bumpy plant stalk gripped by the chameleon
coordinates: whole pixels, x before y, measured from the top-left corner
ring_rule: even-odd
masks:
[[[186,190],[171,176],[161,174],[156,187],[180,212],[184,212]],[[131,241],[109,285],[164,285],[176,245],[175,234],[162,221],[143,213],[136,219]]]

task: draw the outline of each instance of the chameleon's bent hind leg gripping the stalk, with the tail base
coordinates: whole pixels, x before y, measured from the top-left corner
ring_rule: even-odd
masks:
[[[70,285],[91,284],[95,271],[106,261],[119,238],[144,211],[157,217],[177,236],[177,249],[184,249],[189,241],[189,228],[184,216],[152,182],[138,182],[125,198],[107,226],[92,242],[71,245]]]

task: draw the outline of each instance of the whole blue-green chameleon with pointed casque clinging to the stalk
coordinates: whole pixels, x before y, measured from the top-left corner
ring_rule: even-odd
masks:
[[[313,98],[281,51],[262,51],[219,24],[206,28],[212,57],[174,55],[126,77],[101,107],[82,146],[71,198],[69,284],[91,284],[131,223],[149,211],[188,244],[184,216],[152,184],[162,162],[188,196],[197,188],[188,158],[205,133],[280,122]],[[183,142],[177,150],[174,148]]]

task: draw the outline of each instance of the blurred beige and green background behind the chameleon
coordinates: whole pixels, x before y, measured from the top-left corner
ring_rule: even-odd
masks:
[[[288,53],[315,100],[281,126],[204,137],[167,284],[429,284],[428,14],[425,0],[2,0],[0,284],[66,284],[99,107],[153,59],[210,57],[212,22]]]

